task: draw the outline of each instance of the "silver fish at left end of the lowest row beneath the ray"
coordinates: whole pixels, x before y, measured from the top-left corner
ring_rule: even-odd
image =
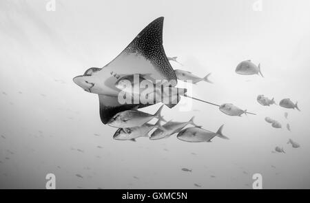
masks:
[[[149,131],[152,131],[155,127],[165,130],[161,126],[161,121],[158,120],[155,125],[145,123],[141,127],[120,128],[114,133],[113,138],[115,140],[134,140],[140,137],[148,138]]]

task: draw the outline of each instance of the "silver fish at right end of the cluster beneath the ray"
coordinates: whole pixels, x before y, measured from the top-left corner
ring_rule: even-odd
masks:
[[[222,125],[216,133],[199,127],[188,127],[187,129],[180,131],[176,137],[185,142],[211,142],[211,139],[215,136],[228,140],[229,138],[223,136],[223,126],[224,125]]]

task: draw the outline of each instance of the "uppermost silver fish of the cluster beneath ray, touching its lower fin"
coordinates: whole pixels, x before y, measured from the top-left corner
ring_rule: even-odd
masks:
[[[158,118],[159,120],[165,121],[161,116],[162,109],[163,105],[158,109],[158,111],[156,111],[154,115],[147,114],[143,111],[137,111],[136,109],[122,111],[113,116],[113,118],[107,122],[107,125],[110,125],[111,127],[128,128],[142,126],[153,118]]]

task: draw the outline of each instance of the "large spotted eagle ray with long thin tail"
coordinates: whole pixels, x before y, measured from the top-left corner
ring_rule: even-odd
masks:
[[[99,113],[103,124],[112,118],[115,114],[128,109],[138,109],[153,104],[121,104],[118,102],[120,89],[115,87],[117,78],[111,75],[116,72],[119,75],[144,74],[149,76],[152,82],[157,80],[168,81],[165,85],[175,87],[177,84],[176,74],[163,48],[163,17],[159,17],[149,23],[136,38],[110,63],[102,68],[91,67],[81,76],[73,78],[74,83],[82,87],[86,92],[99,95]],[[178,94],[178,93],[177,93]],[[165,104],[168,107],[174,107],[179,101],[179,95],[176,103]],[[187,96],[184,93],[182,96]],[[191,96],[187,96],[192,99]],[[209,103],[205,100],[200,100]],[[216,105],[219,106],[219,105]]]

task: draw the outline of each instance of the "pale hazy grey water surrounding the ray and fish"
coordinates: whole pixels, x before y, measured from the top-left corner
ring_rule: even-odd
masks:
[[[0,189],[45,189],[48,173],[56,189],[252,189],[256,173],[263,189],[310,189],[310,1],[257,1],[56,0],[53,11],[50,0],[1,0]],[[110,63],[158,17],[165,17],[165,54],[181,63],[172,67],[201,78],[211,72],[213,84],[178,87],[257,114],[228,116],[182,97],[163,107],[163,117],[195,116],[214,132],[224,125],[229,140],[114,140],[117,129],[101,122],[98,95],[72,81]],[[237,74],[247,60],[260,63],[264,77]],[[277,105],[260,105],[260,94]],[[280,107],[283,98],[301,111]]]

